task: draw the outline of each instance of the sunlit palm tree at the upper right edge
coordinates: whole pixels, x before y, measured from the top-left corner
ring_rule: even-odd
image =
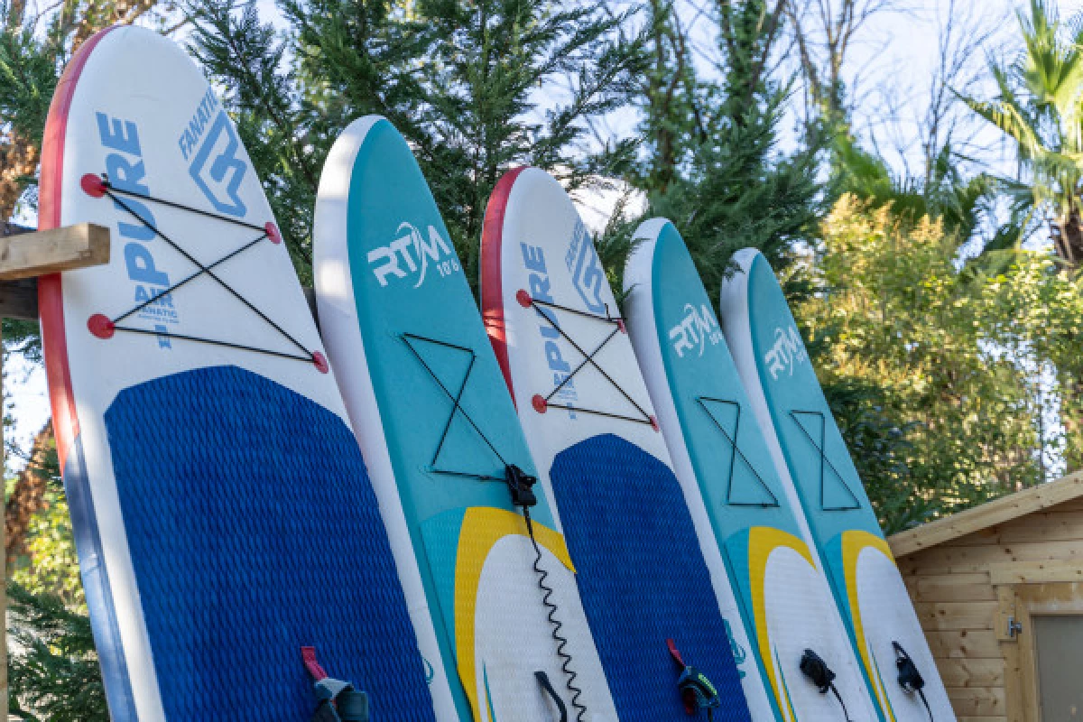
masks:
[[[1071,270],[1083,262],[1083,24],[1061,23],[1047,0],[1017,12],[1025,48],[1015,61],[990,63],[999,94],[964,97],[982,118],[1015,141],[1029,182],[1002,179],[1015,210],[1045,216],[1056,254]]]

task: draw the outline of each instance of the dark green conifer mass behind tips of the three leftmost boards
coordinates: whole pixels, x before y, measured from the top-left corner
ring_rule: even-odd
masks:
[[[631,142],[589,133],[591,120],[627,102],[638,68],[624,15],[571,0],[279,6],[296,28],[286,38],[252,3],[193,5],[193,50],[229,89],[302,275],[318,169],[362,115],[386,116],[413,145],[472,284],[485,204],[505,171],[533,165],[575,189],[631,158]],[[542,91],[558,86],[563,96],[543,103]]]

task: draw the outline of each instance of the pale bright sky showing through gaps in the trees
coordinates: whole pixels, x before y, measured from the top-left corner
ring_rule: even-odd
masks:
[[[700,8],[706,0],[681,0],[683,17],[691,27],[693,44],[701,64],[710,56],[712,23]],[[966,43],[981,38],[980,47],[970,48],[960,75],[963,94],[983,96],[991,90],[987,83],[974,80],[980,76],[988,58],[1009,57],[1017,25],[1013,11],[1023,2],[1014,0],[861,0],[862,2],[892,2],[897,11],[874,15],[854,40],[848,60],[847,87],[854,99],[853,118],[856,132],[861,140],[875,146],[891,163],[897,173],[918,172],[921,169],[921,142],[917,129],[928,108],[931,78],[936,71],[938,43],[944,35],[944,19],[952,8],[955,16],[963,17],[963,27],[955,28],[952,42]],[[699,3],[699,4],[697,4]],[[1083,8],[1083,2],[1060,0],[1062,17]],[[258,0],[261,14],[269,21],[280,23],[273,0]],[[781,69],[795,70],[793,54],[780,57]],[[559,97],[559,89],[552,91]],[[795,96],[799,100],[799,96]],[[796,143],[798,118],[791,115],[783,122],[783,145]],[[608,119],[606,127],[615,133],[628,133],[636,119],[625,113]],[[995,131],[983,128],[967,114],[956,118],[956,139],[976,160],[971,170],[987,169],[1001,173],[1013,172],[1010,148],[999,142]],[[580,197],[579,205],[585,220],[595,227],[604,225],[616,193]],[[32,223],[32,216],[22,219]],[[49,402],[44,372],[41,367],[18,357],[6,360],[6,390],[10,392],[8,412],[15,419],[14,437],[21,445],[41,428],[49,418]],[[18,465],[15,460],[15,465]]]

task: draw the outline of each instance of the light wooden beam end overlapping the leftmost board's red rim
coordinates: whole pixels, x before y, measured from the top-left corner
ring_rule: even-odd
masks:
[[[93,223],[0,238],[0,280],[31,278],[109,262],[109,229]]]

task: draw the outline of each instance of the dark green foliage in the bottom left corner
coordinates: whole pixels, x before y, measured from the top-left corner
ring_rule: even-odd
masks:
[[[108,722],[90,620],[58,596],[8,587],[9,704],[15,719]]]

